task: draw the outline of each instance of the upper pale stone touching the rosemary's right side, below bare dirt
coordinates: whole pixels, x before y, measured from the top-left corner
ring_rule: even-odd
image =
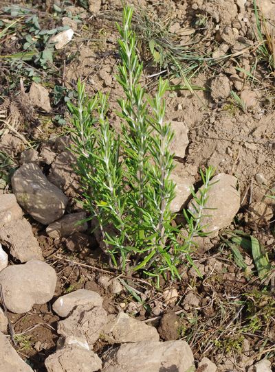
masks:
[[[169,150],[175,156],[184,158],[186,148],[188,146],[188,128],[182,121],[171,121],[171,130],[174,132],[174,137],[170,143]]]

